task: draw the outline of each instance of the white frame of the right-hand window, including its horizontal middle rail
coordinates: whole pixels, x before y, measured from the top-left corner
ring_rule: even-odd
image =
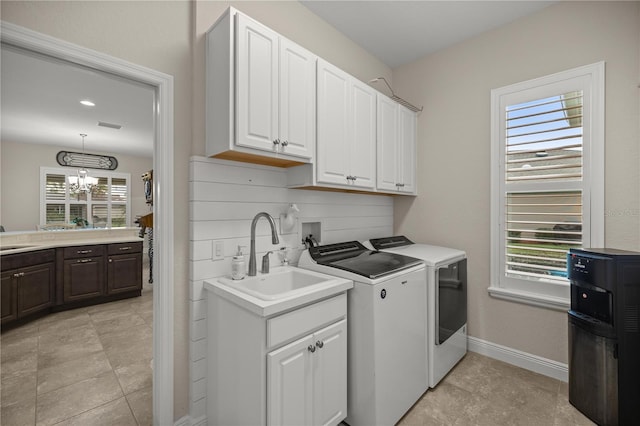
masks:
[[[489,294],[545,308],[570,307],[569,280],[564,282],[509,277],[504,268],[505,231],[505,108],[508,105],[583,91],[583,177],[576,183],[536,182],[527,191],[582,191],[583,245],[604,247],[605,63],[597,62],[491,91],[491,267]],[[574,89],[574,90],[575,90]],[[517,189],[517,192],[521,189]],[[586,243],[586,244],[585,244]]]

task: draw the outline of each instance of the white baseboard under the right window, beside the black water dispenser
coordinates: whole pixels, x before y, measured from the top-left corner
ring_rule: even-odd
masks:
[[[507,346],[487,342],[486,340],[472,336],[467,338],[467,343],[471,352],[476,352],[480,355],[485,355],[517,367],[525,368],[563,382],[569,381],[569,369],[567,364],[527,352],[522,352]]]

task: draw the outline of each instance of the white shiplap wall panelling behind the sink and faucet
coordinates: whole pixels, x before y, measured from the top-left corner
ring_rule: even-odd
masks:
[[[244,246],[249,264],[250,228],[253,217],[267,212],[276,218],[280,244],[271,244],[271,230],[265,219],[256,226],[256,259],[269,250],[290,247],[292,263],[302,250],[300,223],[320,222],[322,244],[391,235],[393,198],[380,195],[347,194],[286,188],[286,169],[233,161],[192,157],[190,162],[190,301],[191,301],[191,417],[206,414],[206,290],[204,280],[229,275],[231,258],[238,245]],[[282,232],[279,217],[295,203],[297,225]],[[224,259],[212,260],[214,241],[224,244]],[[280,264],[270,256],[271,267]]]

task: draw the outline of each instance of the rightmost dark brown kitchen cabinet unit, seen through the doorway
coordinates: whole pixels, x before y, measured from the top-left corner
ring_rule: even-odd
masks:
[[[142,243],[109,244],[107,294],[142,289]]]

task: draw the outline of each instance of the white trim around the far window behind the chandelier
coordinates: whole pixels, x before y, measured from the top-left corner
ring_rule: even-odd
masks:
[[[76,173],[76,169],[71,169],[71,168],[59,168],[59,167],[40,167],[40,225],[45,225],[46,221],[47,221],[47,208],[46,205],[47,204],[54,204],[53,202],[51,203],[47,203],[47,191],[46,191],[46,177],[48,174],[55,174],[55,175],[65,175],[65,179],[68,179],[69,176],[73,176]],[[127,209],[127,213],[126,213],[126,228],[131,227],[131,173],[117,173],[117,172],[111,172],[111,171],[106,171],[106,170],[96,170],[94,173],[91,173],[92,176],[97,176],[97,177],[108,177],[108,178],[117,178],[117,179],[126,179],[127,181],[127,201],[126,202],[121,202],[121,201],[116,201],[116,202],[112,202],[112,201],[95,201],[92,202],[91,204],[102,204],[102,205],[107,205],[108,206],[108,215],[109,215],[109,223],[111,223],[111,206],[112,205],[123,205],[126,204],[126,209]],[[56,203],[57,204],[57,203]],[[65,204],[65,210],[68,209],[68,206],[70,204],[76,204],[76,202],[74,202],[71,199],[71,194],[69,191],[69,187],[66,187],[66,191],[65,191],[65,199],[64,199],[64,204]],[[82,203],[80,203],[82,204]],[[87,214],[89,214],[89,212],[87,211]],[[111,229],[112,226],[109,225],[107,227],[108,229]],[[121,227],[118,227],[119,229]]]

